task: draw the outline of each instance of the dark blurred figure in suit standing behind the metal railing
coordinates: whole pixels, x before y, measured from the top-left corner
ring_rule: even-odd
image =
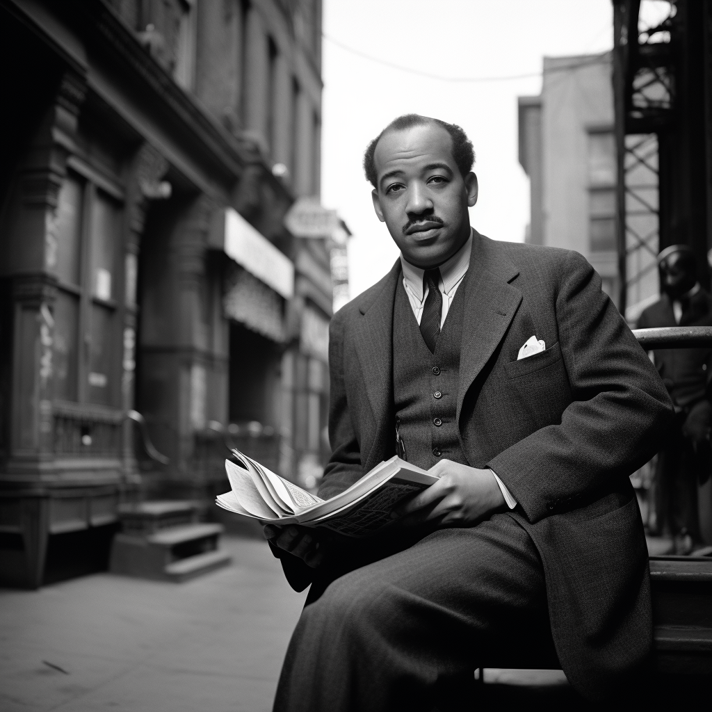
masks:
[[[712,326],[712,297],[697,281],[692,250],[671,245],[658,266],[664,294],[642,313],[639,328]],[[675,553],[685,555],[701,543],[697,483],[710,476],[712,349],[661,349],[654,358],[676,414],[656,464],[655,528],[672,535]]]

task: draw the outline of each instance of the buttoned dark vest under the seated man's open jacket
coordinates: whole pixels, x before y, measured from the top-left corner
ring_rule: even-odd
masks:
[[[460,342],[467,275],[431,353],[399,281],[393,310],[393,398],[409,462],[429,469],[442,459],[468,464],[456,422]]]

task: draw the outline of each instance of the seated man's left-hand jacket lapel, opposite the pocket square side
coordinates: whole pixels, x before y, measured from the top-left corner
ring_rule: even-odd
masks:
[[[361,308],[361,316],[354,329],[362,381],[376,424],[376,431],[371,434],[370,450],[377,454],[377,462],[382,459],[386,445],[384,439],[389,434],[389,413],[393,409],[393,305],[400,274],[400,260],[397,260],[383,289],[370,305]],[[364,466],[372,467],[374,463],[371,460],[371,453],[368,452]]]

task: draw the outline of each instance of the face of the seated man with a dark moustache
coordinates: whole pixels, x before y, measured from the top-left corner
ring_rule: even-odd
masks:
[[[477,177],[462,177],[449,133],[436,123],[389,131],[379,140],[374,161],[378,219],[409,263],[441,265],[468,239],[467,208],[477,201]]]

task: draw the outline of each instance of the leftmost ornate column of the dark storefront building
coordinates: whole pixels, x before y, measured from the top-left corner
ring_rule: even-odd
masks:
[[[85,80],[66,73],[18,169],[9,201],[4,272],[12,280],[13,334],[10,452],[4,488],[21,499],[26,585],[41,585],[53,481],[53,304],[56,299],[56,209],[66,161],[75,149]]]

